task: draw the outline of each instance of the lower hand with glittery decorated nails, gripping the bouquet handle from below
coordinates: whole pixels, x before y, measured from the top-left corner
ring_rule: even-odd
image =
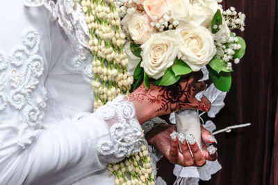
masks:
[[[165,125],[161,124],[158,127],[155,127],[152,131],[150,131],[146,139],[148,143],[156,146],[158,150],[172,163],[179,164],[180,166],[204,166],[206,164],[206,160],[215,161],[218,158],[218,153],[215,152],[214,155],[209,155],[206,144],[213,143],[211,141],[211,133],[208,132],[204,127],[201,129],[202,134],[202,148],[203,150],[199,150],[197,143],[193,143],[193,145],[188,145],[186,142],[179,142],[178,139],[173,140],[170,137],[170,134],[175,130],[175,126],[173,125]],[[179,148],[180,143],[180,148]],[[192,155],[190,153],[192,151]]]

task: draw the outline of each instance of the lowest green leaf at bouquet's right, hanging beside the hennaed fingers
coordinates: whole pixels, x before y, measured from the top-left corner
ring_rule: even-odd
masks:
[[[213,80],[213,84],[220,91],[228,92],[231,89],[231,73],[221,71],[219,74],[211,69],[209,65],[206,65],[208,69],[209,76]]]

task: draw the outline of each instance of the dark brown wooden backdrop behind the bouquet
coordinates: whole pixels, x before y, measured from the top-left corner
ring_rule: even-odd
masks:
[[[251,127],[216,135],[222,165],[210,182],[199,184],[278,184],[278,2],[276,0],[224,0],[244,12],[247,50],[234,65],[233,83],[225,107],[213,119],[218,130],[229,125]],[[176,177],[174,166],[162,159],[158,175],[168,185]]]

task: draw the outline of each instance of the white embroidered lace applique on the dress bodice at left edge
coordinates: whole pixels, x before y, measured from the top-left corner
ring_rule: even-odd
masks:
[[[40,36],[29,30],[23,44],[5,57],[0,53],[0,114],[7,106],[22,112],[24,123],[19,126],[18,145],[25,148],[38,135],[46,107],[47,91],[32,95],[40,83],[44,62],[38,55]],[[8,92],[8,93],[7,93]]]

